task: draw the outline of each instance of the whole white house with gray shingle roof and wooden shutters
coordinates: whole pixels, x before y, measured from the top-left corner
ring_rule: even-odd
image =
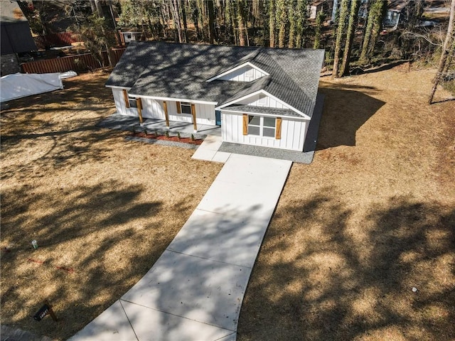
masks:
[[[220,125],[223,141],[303,151],[324,50],[132,42],[107,80],[117,112]]]

